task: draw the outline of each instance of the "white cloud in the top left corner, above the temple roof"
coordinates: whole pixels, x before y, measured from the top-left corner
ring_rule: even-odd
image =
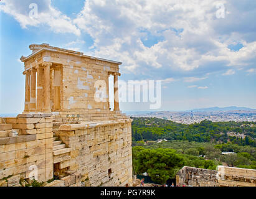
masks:
[[[3,0],[0,5],[0,11],[13,16],[23,29],[29,26],[46,24],[55,33],[80,35],[80,30],[73,24],[72,20],[62,12],[54,9],[50,0]]]

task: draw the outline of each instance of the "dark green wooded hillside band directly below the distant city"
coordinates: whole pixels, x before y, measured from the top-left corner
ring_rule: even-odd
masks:
[[[256,147],[256,123],[253,122],[212,122],[201,121],[195,124],[179,124],[167,119],[132,118],[133,141],[195,141],[238,144]],[[230,134],[231,132],[231,134]],[[244,134],[245,138],[237,136]]]

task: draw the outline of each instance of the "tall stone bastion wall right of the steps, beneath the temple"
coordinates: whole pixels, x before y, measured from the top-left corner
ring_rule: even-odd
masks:
[[[132,184],[131,120],[62,124],[56,134],[71,149],[70,170],[91,186]]]

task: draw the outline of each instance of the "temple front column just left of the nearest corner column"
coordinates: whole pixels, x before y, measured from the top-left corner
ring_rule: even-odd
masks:
[[[42,111],[43,104],[43,85],[44,85],[44,70],[42,67],[37,66],[37,111]]]

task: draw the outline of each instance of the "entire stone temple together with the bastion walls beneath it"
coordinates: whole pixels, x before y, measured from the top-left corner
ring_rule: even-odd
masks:
[[[47,186],[131,185],[132,120],[118,103],[121,62],[49,44],[29,47],[32,54],[21,57],[24,111],[0,119],[0,186],[36,175],[38,182],[59,178]]]

